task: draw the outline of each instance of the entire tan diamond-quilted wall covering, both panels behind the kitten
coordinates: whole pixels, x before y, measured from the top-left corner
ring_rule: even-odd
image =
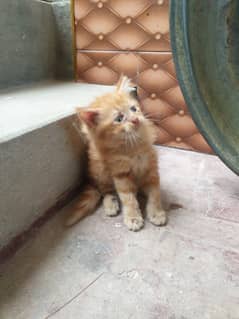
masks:
[[[179,88],[169,41],[168,0],[75,0],[76,76],[115,84],[121,73],[138,85],[157,142],[211,153]]]

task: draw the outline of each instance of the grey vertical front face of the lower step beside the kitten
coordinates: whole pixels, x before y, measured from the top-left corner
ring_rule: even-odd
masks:
[[[0,250],[80,183],[83,154],[71,117],[0,144]]]

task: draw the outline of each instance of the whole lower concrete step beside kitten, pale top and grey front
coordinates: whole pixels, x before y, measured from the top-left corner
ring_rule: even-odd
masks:
[[[0,92],[0,251],[81,182],[75,107],[110,90],[48,81]]]

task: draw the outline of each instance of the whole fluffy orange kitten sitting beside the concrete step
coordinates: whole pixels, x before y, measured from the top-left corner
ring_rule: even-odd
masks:
[[[147,195],[150,222],[159,226],[166,223],[152,146],[154,126],[143,115],[135,93],[124,76],[113,93],[98,97],[86,109],[77,109],[88,140],[89,181],[67,220],[68,226],[92,213],[102,198],[105,214],[117,215],[119,197],[125,225],[137,231],[144,225],[137,201],[139,191]]]

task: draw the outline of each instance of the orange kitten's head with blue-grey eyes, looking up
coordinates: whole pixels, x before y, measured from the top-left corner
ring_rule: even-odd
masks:
[[[137,88],[126,76],[121,77],[114,92],[96,98],[88,108],[77,109],[77,114],[83,131],[108,147],[130,148],[154,142],[154,126],[145,118]]]

